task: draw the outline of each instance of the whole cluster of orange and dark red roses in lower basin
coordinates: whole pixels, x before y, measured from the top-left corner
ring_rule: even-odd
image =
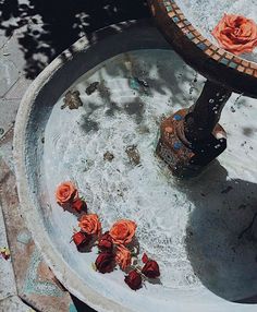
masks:
[[[57,188],[56,199],[64,209],[79,214],[79,231],[73,233],[72,241],[79,252],[90,251],[97,245],[99,254],[94,268],[100,273],[110,273],[117,265],[126,272],[125,283],[134,290],[139,289],[144,280],[160,276],[159,265],[145,253],[143,265],[138,265],[137,251],[133,245],[136,224],[128,219],[114,223],[109,231],[102,233],[101,223],[96,214],[87,214],[87,204],[78,196],[72,182],[63,182]]]

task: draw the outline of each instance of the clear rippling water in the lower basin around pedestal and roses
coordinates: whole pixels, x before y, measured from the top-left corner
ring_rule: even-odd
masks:
[[[219,300],[210,299],[210,291],[229,300],[257,292],[257,232],[253,227],[238,238],[256,213],[254,100],[236,95],[229,100],[221,120],[229,147],[197,180],[176,181],[155,155],[160,120],[191,106],[204,81],[171,50],[123,53],[71,86],[79,91],[82,107],[61,109],[63,95],[47,123],[44,178],[50,208],[44,218],[53,244],[86,284],[135,311],[138,304],[140,311],[157,311],[158,302],[169,311],[174,297],[183,303],[185,296],[192,302],[200,296],[210,304]],[[88,95],[94,82],[97,89]],[[128,146],[139,161],[128,157]],[[105,229],[119,218],[137,223],[140,252],[159,262],[161,284],[135,293],[120,271],[91,269],[96,250],[81,254],[70,244],[76,217],[54,201],[56,187],[65,180],[77,184]]]

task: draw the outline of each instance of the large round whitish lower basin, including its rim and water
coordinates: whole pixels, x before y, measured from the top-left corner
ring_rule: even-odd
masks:
[[[155,154],[159,124],[196,100],[204,77],[147,23],[96,37],[103,39],[76,43],[39,75],[16,120],[20,200],[46,261],[97,311],[255,311],[231,302],[257,293],[254,100],[231,97],[221,118],[228,149],[203,176],[178,181]],[[83,106],[61,109],[68,91]],[[160,283],[133,291],[120,269],[91,268],[97,250],[70,243],[77,218],[54,200],[66,180],[105,230],[120,218],[137,223],[140,253],[158,261]]]

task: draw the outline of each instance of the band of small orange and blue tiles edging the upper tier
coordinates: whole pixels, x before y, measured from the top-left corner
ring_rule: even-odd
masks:
[[[220,64],[229,67],[238,72],[244,72],[248,75],[257,76],[257,64],[246,61],[240,57],[234,57],[230,52],[212,45],[207,40],[195,27],[187,21],[176,5],[174,0],[160,0],[160,3],[164,5],[168,16],[172,22],[182,31],[186,37],[194,43],[200,50],[205,52],[208,58],[218,61]]]

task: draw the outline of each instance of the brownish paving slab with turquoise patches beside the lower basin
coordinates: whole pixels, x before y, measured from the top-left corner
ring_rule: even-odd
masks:
[[[57,283],[24,224],[14,173],[2,159],[0,159],[0,197],[15,274],[15,283],[14,279],[9,279],[7,286],[16,287],[19,296],[39,311],[69,311],[68,307],[71,303],[69,292]],[[4,271],[3,274],[5,274]],[[9,292],[8,296],[15,293]]]

